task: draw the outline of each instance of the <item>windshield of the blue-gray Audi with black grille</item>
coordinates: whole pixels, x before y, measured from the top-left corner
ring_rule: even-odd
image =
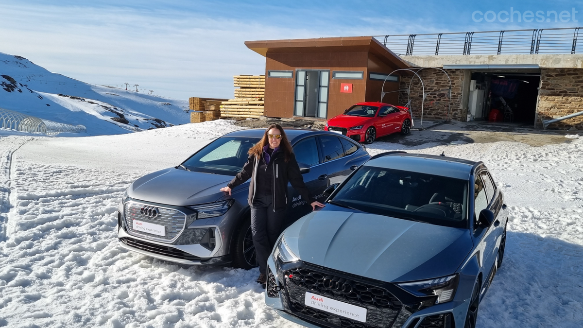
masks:
[[[332,202],[372,214],[467,228],[467,196],[465,180],[363,166]]]

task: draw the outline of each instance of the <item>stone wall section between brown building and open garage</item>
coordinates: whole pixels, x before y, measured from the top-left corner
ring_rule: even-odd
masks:
[[[449,78],[451,79],[452,95],[451,95],[451,113],[449,118],[458,121],[466,121],[466,110],[462,107],[462,90],[463,90],[463,69],[445,69]],[[423,105],[423,120],[445,120],[448,112],[449,104],[449,80],[447,75],[439,69],[425,68],[417,72],[423,79],[425,86],[425,93],[427,95]],[[422,86],[416,75],[407,75],[403,73],[401,76],[401,92],[399,92],[399,105],[406,106],[407,104],[407,89],[409,83],[411,84],[411,109],[413,110],[413,117],[415,120],[421,118],[421,104],[422,104]]]

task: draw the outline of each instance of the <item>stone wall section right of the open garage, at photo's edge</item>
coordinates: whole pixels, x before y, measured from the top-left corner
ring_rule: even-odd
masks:
[[[537,126],[542,127],[541,118],[552,120],[578,111],[583,111],[583,69],[543,68],[540,73]],[[583,116],[568,118],[547,128],[583,130]]]

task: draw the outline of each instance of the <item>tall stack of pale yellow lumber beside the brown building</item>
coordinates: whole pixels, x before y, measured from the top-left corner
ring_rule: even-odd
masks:
[[[221,117],[263,116],[265,97],[265,75],[233,76],[235,98],[222,102]]]

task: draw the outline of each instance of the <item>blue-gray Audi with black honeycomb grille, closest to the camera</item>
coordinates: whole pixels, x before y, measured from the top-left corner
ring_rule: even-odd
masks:
[[[373,156],[289,226],[265,302],[308,327],[473,328],[508,210],[482,162]]]

